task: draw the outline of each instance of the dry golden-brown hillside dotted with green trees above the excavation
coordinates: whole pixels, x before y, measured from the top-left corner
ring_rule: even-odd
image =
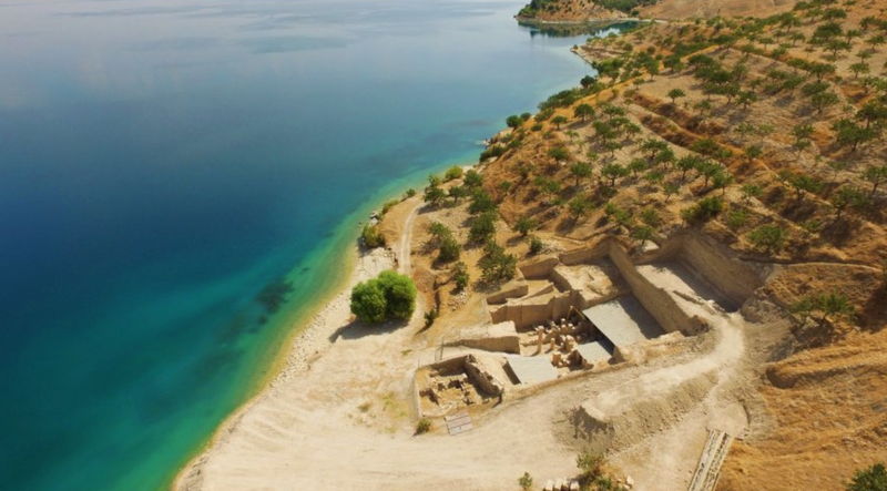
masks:
[[[733,400],[747,427],[721,490],[839,489],[887,460],[887,17],[874,1],[791,3],[645,9],[781,13],[592,40],[577,52],[600,76],[509,119],[481,160],[520,264],[529,243],[503,227],[527,225],[548,250],[612,238],[635,254],[702,234],[767,272],[742,313],[791,325],[746,333]],[[450,305],[447,267],[422,268],[430,299]],[[642,472],[632,452],[613,460]]]

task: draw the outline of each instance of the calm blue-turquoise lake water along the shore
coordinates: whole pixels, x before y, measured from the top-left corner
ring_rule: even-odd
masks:
[[[520,4],[0,0],[2,488],[169,483],[373,206],[589,72]]]

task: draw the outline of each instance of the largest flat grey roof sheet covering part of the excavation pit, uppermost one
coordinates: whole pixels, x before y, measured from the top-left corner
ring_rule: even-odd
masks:
[[[634,295],[595,305],[582,311],[614,346],[629,346],[665,334]]]

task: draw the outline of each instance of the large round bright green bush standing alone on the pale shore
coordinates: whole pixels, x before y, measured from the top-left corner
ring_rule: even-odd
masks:
[[[409,319],[416,309],[416,285],[394,270],[358,283],[351,290],[351,314],[370,324],[386,319]]]

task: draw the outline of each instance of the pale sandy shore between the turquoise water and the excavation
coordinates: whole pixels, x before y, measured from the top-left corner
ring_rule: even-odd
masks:
[[[405,225],[414,216],[406,214]],[[409,244],[405,234],[401,244]],[[397,248],[409,257],[409,247]],[[390,250],[361,254],[350,285],[395,264]],[[555,405],[513,401],[458,438],[440,428],[414,436],[412,374],[435,350],[420,334],[421,311],[406,325],[353,324],[350,285],[295,339],[282,374],[227,421],[174,489],[493,490],[513,485],[524,471],[575,473],[574,450],[549,430]]]

